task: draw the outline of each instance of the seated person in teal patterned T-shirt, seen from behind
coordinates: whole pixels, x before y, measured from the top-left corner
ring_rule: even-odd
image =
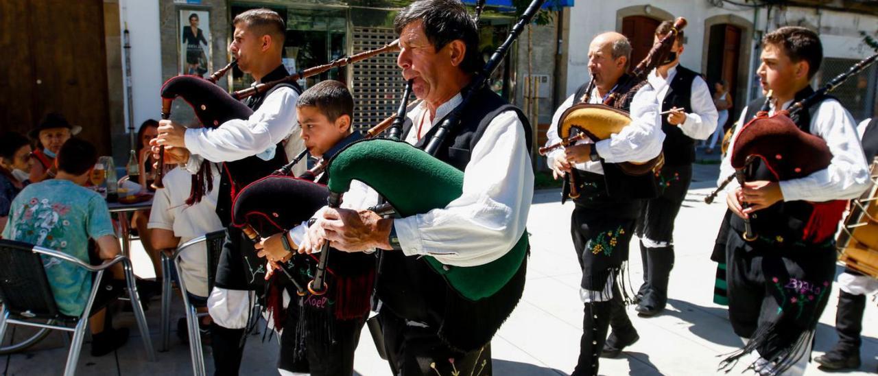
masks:
[[[57,176],[26,186],[12,200],[4,239],[58,250],[91,264],[116,257],[119,240],[106,201],[82,186],[96,162],[97,150],[88,141],[65,142],[58,152]],[[94,252],[89,239],[97,242]],[[82,315],[91,292],[90,272],[52,257],[43,257],[43,266],[61,314]],[[89,319],[94,357],[116,350],[128,339],[128,329],[112,328],[105,308],[125,286],[122,265],[115,264],[110,271],[112,278],[101,279]]]

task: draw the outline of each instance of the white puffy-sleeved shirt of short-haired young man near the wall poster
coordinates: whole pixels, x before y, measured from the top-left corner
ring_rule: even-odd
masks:
[[[195,173],[205,159],[215,163],[232,162],[256,155],[268,161],[274,157],[277,143],[284,140],[287,140],[285,149],[298,153],[305,148],[296,119],[298,100],[296,90],[281,86],[270,91],[248,119],[231,119],[216,128],[186,129],[184,143],[191,152],[186,170]],[[299,176],[305,170],[305,163],[299,163],[292,171]]]

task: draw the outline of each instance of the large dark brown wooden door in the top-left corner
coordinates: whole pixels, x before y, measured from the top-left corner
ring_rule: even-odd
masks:
[[[109,155],[110,119],[101,0],[0,0],[0,122],[26,134],[48,112]],[[9,32],[12,31],[12,32]],[[6,127],[6,126],[9,127]]]

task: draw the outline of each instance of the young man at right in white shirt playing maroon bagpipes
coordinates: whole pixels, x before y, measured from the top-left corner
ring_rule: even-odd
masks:
[[[721,178],[735,170],[744,174],[742,180],[747,177],[743,186],[732,181],[725,189],[733,213],[726,242],[729,316],[735,333],[747,339],[721,368],[751,354],[749,366],[759,374],[804,372],[835,276],[833,236],[845,200],[867,186],[853,118],[838,100],[821,96],[810,99],[810,107],[796,108],[814,93],[810,80],[822,59],[819,37],[808,29],[785,26],[766,34],[758,73],[763,89],[773,90],[774,102],[757,119],[764,98],[742,113],[741,119],[753,120],[736,129],[721,165]],[[760,137],[791,127],[801,131],[793,133],[801,145],[786,148],[791,141],[778,139],[759,144]],[[805,149],[824,152],[790,155]],[[827,165],[814,165],[821,158]],[[748,162],[741,166],[742,160]],[[814,172],[799,176],[802,170]]]

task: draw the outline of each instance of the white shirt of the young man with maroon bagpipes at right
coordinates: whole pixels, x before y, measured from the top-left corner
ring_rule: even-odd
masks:
[[[781,105],[788,108],[793,104],[790,100]],[[769,115],[775,112],[775,106],[771,106]],[[738,119],[738,127],[732,135],[729,150],[734,148],[738,134],[745,123],[747,109],[741,112]],[[860,137],[853,123],[853,117],[845,110],[838,100],[826,99],[817,107],[817,112],[811,118],[810,133],[819,136],[826,141],[826,145],[832,153],[829,167],[810,174],[807,177],[784,180],[780,182],[784,201],[806,200],[814,202],[830,201],[833,199],[853,199],[860,196],[867,188],[869,172],[866,156],[860,144]],[[724,177],[735,172],[731,167],[731,152],[723,159],[720,165],[720,175],[717,184],[722,183]],[[732,179],[725,188],[726,193],[735,192],[738,182]]]

